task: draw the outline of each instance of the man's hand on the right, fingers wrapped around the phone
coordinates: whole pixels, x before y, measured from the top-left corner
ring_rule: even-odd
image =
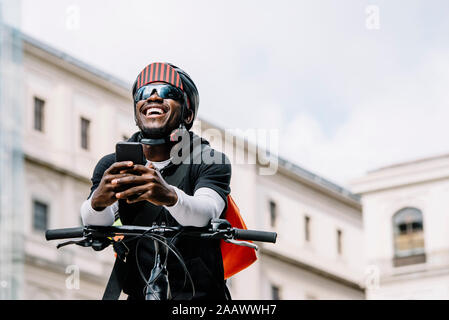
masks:
[[[135,174],[116,177],[111,184],[121,189],[129,185],[134,186],[116,193],[117,199],[126,199],[127,203],[146,200],[158,206],[173,206],[178,201],[174,188],[162,178],[153,164],[150,163],[149,167],[134,165],[127,168],[126,172]]]

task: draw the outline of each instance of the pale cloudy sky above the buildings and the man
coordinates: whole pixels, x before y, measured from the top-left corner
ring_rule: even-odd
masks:
[[[186,70],[199,117],[278,130],[281,157],[342,186],[449,153],[449,1],[22,0],[22,30],[132,83]]]

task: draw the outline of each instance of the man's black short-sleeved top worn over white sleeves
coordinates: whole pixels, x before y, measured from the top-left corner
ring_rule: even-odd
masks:
[[[224,154],[212,149],[207,140],[192,132],[190,132],[190,135],[190,163],[170,163],[160,171],[161,175],[167,183],[178,187],[188,195],[193,195],[201,187],[212,188],[225,201],[225,208],[221,213],[223,215],[227,209],[227,195],[230,192],[231,165],[229,159]],[[138,140],[139,133],[135,133],[128,141]],[[202,157],[218,159],[219,163],[207,164],[204,161],[198,161]],[[92,177],[91,194],[98,187],[104,171],[114,162],[115,154],[109,154],[98,162]],[[179,225],[163,206],[156,206],[144,201],[127,204],[119,200],[119,217],[124,225],[151,226],[153,222],[161,223],[163,221],[169,226]],[[131,250],[126,263],[117,260],[108,288],[121,287],[133,299],[144,299],[145,282],[137,269],[136,242],[131,241],[127,244]],[[193,299],[225,299],[227,289],[224,282],[219,241],[178,238],[175,241],[175,247],[181,254],[193,279],[196,292]],[[148,279],[154,264],[154,245],[152,241],[141,241],[137,254],[139,265],[145,278]],[[175,299],[190,299],[192,297],[190,282],[185,282],[184,270],[173,254],[169,255],[167,269],[173,297]],[[111,283],[111,281],[114,283]],[[108,288],[106,291],[109,290]],[[104,299],[107,299],[106,294]]]

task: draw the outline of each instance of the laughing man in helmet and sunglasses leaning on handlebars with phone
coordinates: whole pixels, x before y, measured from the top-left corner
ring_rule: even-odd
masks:
[[[81,206],[83,223],[112,225],[120,218],[124,225],[164,222],[201,227],[223,217],[231,165],[208,141],[189,131],[199,105],[198,90],[190,76],[172,64],[152,63],[138,75],[132,94],[140,131],[128,141],[142,143],[147,164],[116,162],[115,154],[104,156],[94,169],[91,193]],[[188,152],[181,152],[184,154],[178,159],[179,151],[185,150]],[[193,280],[193,299],[229,297],[218,241],[178,238],[174,244]],[[135,246],[135,241],[127,242],[126,262],[116,259],[104,299],[116,299],[121,289],[128,299],[144,299],[146,282],[136,254],[148,280],[154,265],[154,244],[145,240],[138,250]],[[185,282],[184,270],[173,255],[168,257],[167,269],[172,296],[190,299],[192,287]]]

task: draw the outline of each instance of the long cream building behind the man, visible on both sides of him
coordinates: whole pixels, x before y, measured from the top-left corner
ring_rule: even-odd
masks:
[[[21,39],[23,270],[15,298],[100,299],[112,249],[56,250],[44,231],[81,225],[79,208],[96,163],[137,131],[131,85],[36,39]],[[235,299],[364,298],[357,196],[279,157],[267,162],[257,146],[225,138],[210,123],[198,120],[193,130],[233,162],[231,194],[248,228],[278,233],[276,244],[259,244],[258,261],[230,280]],[[273,174],[261,174],[271,165]]]

